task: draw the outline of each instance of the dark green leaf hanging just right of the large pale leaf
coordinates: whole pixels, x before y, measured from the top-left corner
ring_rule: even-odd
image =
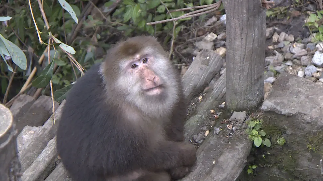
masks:
[[[50,62],[45,69],[41,72],[41,74],[32,82],[32,85],[39,88],[44,88],[48,85],[49,81],[52,79],[53,70],[54,70],[54,62]]]

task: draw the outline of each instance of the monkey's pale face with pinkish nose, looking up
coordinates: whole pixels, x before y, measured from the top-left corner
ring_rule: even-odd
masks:
[[[166,96],[169,83],[166,72],[168,62],[150,54],[137,54],[134,59],[125,61],[118,84],[127,89],[130,95],[146,99],[161,99]],[[165,73],[163,73],[165,72]]]

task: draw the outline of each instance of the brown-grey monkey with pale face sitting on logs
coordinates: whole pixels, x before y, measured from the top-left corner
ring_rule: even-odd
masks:
[[[171,181],[196,163],[180,73],[152,36],[116,43],[69,90],[57,153],[73,181]]]

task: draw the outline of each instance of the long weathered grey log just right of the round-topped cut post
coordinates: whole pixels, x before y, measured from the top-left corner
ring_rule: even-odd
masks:
[[[55,111],[55,124],[53,125],[53,115],[46,121],[43,127],[37,134],[33,136],[32,141],[19,152],[19,159],[24,172],[40,155],[43,149],[47,146],[48,142],[56,136],[57,126],[60,121],[62,108],[64,107],[65,100],[60,104]]]

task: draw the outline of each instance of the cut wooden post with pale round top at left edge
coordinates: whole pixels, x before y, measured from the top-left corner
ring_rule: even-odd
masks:
[[[20,181],[17,129],[8,108],[0,104],[0,181]]]

